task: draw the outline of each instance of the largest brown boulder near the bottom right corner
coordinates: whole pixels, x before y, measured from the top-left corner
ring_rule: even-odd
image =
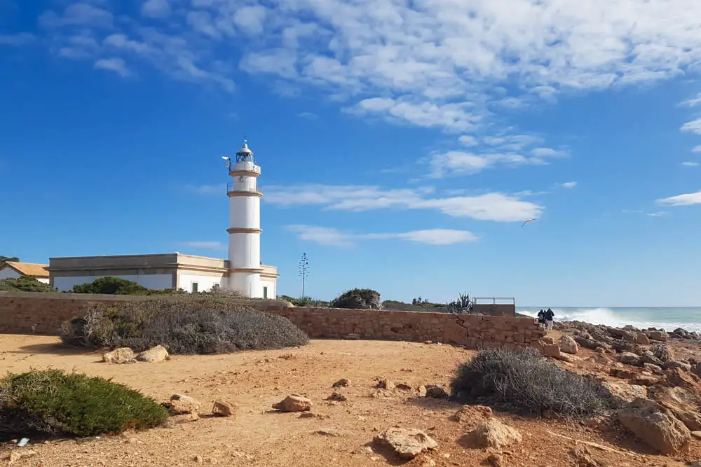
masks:
[[[691,432],[662,405],[635,399],[618,412],[618,421],[662,454],[688,452]]]

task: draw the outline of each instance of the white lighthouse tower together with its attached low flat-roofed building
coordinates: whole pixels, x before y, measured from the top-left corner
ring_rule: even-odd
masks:
[[[182,253],[126,256],[50,258],[50,285],[59,291],[105,276],[121,277],[147,288],[182,288],[209,291],[215,286],[253,298],[275,298],[278,271],[261,263],[260,205],[263,193],[257,185],[261,168],[246,141],[236,160],[224,157],[232,181],[229,195],[229,259]]]

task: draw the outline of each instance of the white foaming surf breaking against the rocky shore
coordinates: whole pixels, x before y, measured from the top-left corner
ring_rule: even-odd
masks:
[[[534,318],[538,316],[540,309],[525,308],[518,309],[517,312],[527,314]],[[552,308],[555,321],[584,321],[585,323],[603,324],[605,326],[622,327],[627,324],[639,329],[646,328],[662,328],[667,331],[672,331],[676,328],[686,329],[688,331],[701,332],[701,323],[689,323],[679,321],[657,321],[653,316],[642,316],[647,313],[616,312],[611,308]],[[659,315],[659,314],[658,314]],[[662,314],[662,317],[665,315]]]

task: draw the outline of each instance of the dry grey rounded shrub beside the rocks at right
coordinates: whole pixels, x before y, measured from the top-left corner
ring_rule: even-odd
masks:
[[[561,370],[533,349],[480,351],[458,367],[451,395],[463,403],[486,400],[512,410],[568,417],[610,414],[620,408],[599,382]]]

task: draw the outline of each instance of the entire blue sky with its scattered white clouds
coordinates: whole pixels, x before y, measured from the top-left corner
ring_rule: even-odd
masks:
[[[279,292],[700,305],[696,0],[0,0],[0,254],[226,256]],[[527,218],[538,218],[522,228]]]

